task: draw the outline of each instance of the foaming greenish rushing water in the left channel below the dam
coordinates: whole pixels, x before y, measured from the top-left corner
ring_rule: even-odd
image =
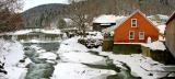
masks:
[[[26,47],[25,55],[28,57],[32,63],[27,65],[27,74],[25,79],[49,79],[51,77],[55,68],[55,63],[48,63],[46,58],[38,58],[39,53],[35,48],[32,48],[32,45],[36,45],[45,49],[46,52],[58,50],[59,43],[24,43],[23,46]]]

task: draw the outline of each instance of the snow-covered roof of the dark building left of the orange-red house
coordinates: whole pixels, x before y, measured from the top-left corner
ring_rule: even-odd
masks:
[[[94,19],[93,23],[116,23],[118,16],[116,15],[100,15],[97,18]]]

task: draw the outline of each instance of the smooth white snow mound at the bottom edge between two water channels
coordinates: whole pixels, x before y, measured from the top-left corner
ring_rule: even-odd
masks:
[[[106,79],[105,77],[115,74],[114,70],[89,68],[82,64],[59,63],[51,79]]]

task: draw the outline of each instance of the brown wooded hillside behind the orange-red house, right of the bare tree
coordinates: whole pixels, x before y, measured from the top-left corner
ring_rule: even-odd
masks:
[[[175,10],[175,0],[90,0],[100,7],[101,13],[130,14],[141,10],[148,15],[171,14]]]

